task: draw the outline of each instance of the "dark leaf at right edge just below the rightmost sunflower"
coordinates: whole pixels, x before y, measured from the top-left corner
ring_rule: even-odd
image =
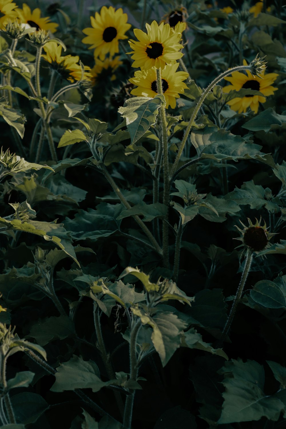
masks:
[[[255,115],[254,118],[247,121],[242,128],[246,128],[250,131],[268,131],[284,129],[286,128],[286,111],[279,115],[275,112],[275,108],[269,107],[263,112],[260,112],[258,115]]]

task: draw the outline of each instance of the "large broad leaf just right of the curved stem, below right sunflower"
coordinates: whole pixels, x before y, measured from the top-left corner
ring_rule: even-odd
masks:
[[[202,158],[217,161],[251,158],[267,160],[266,155],[259,151],[261,146],[245,142],[241,136],[235,136],[229,131],[217,130],[217,127],[206,126],[202,130],[193,130],[191,142]]]

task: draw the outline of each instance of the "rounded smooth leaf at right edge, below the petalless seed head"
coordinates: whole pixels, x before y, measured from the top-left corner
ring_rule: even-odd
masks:
[[[286,310],[285,296],[277,286],[269,280],[258,281],[252,290],[250,290],[250,297],[259,305],[266,308],[284,308]]]

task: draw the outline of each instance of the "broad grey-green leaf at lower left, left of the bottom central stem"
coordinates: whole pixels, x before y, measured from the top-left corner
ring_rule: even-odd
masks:
[[[55,377],[52,392],[75,389],[92,389],[93,392],[98,392],[102,387],[116,383],[116,380],[100,380],[97,365],[92,360],[84,361],[81,356],[75,355],[57,367]]]

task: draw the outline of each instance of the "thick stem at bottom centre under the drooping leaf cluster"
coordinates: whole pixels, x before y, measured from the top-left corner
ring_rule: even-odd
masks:
[[[130,343],[129,343],[129,359],[130,359],[130,380],[136,381],[138,374],[138,365],[137,365],[137,354],[136,354],[136,339],[138,331],[141,327],[141,319],[138,319],[130,334]],[[135,397],[135,390],[132,391],[130,395],[127,396],[124,409],[123,417],[123,427],[124,429],[131,428],[132,422],[132,411],[133,403]]]

